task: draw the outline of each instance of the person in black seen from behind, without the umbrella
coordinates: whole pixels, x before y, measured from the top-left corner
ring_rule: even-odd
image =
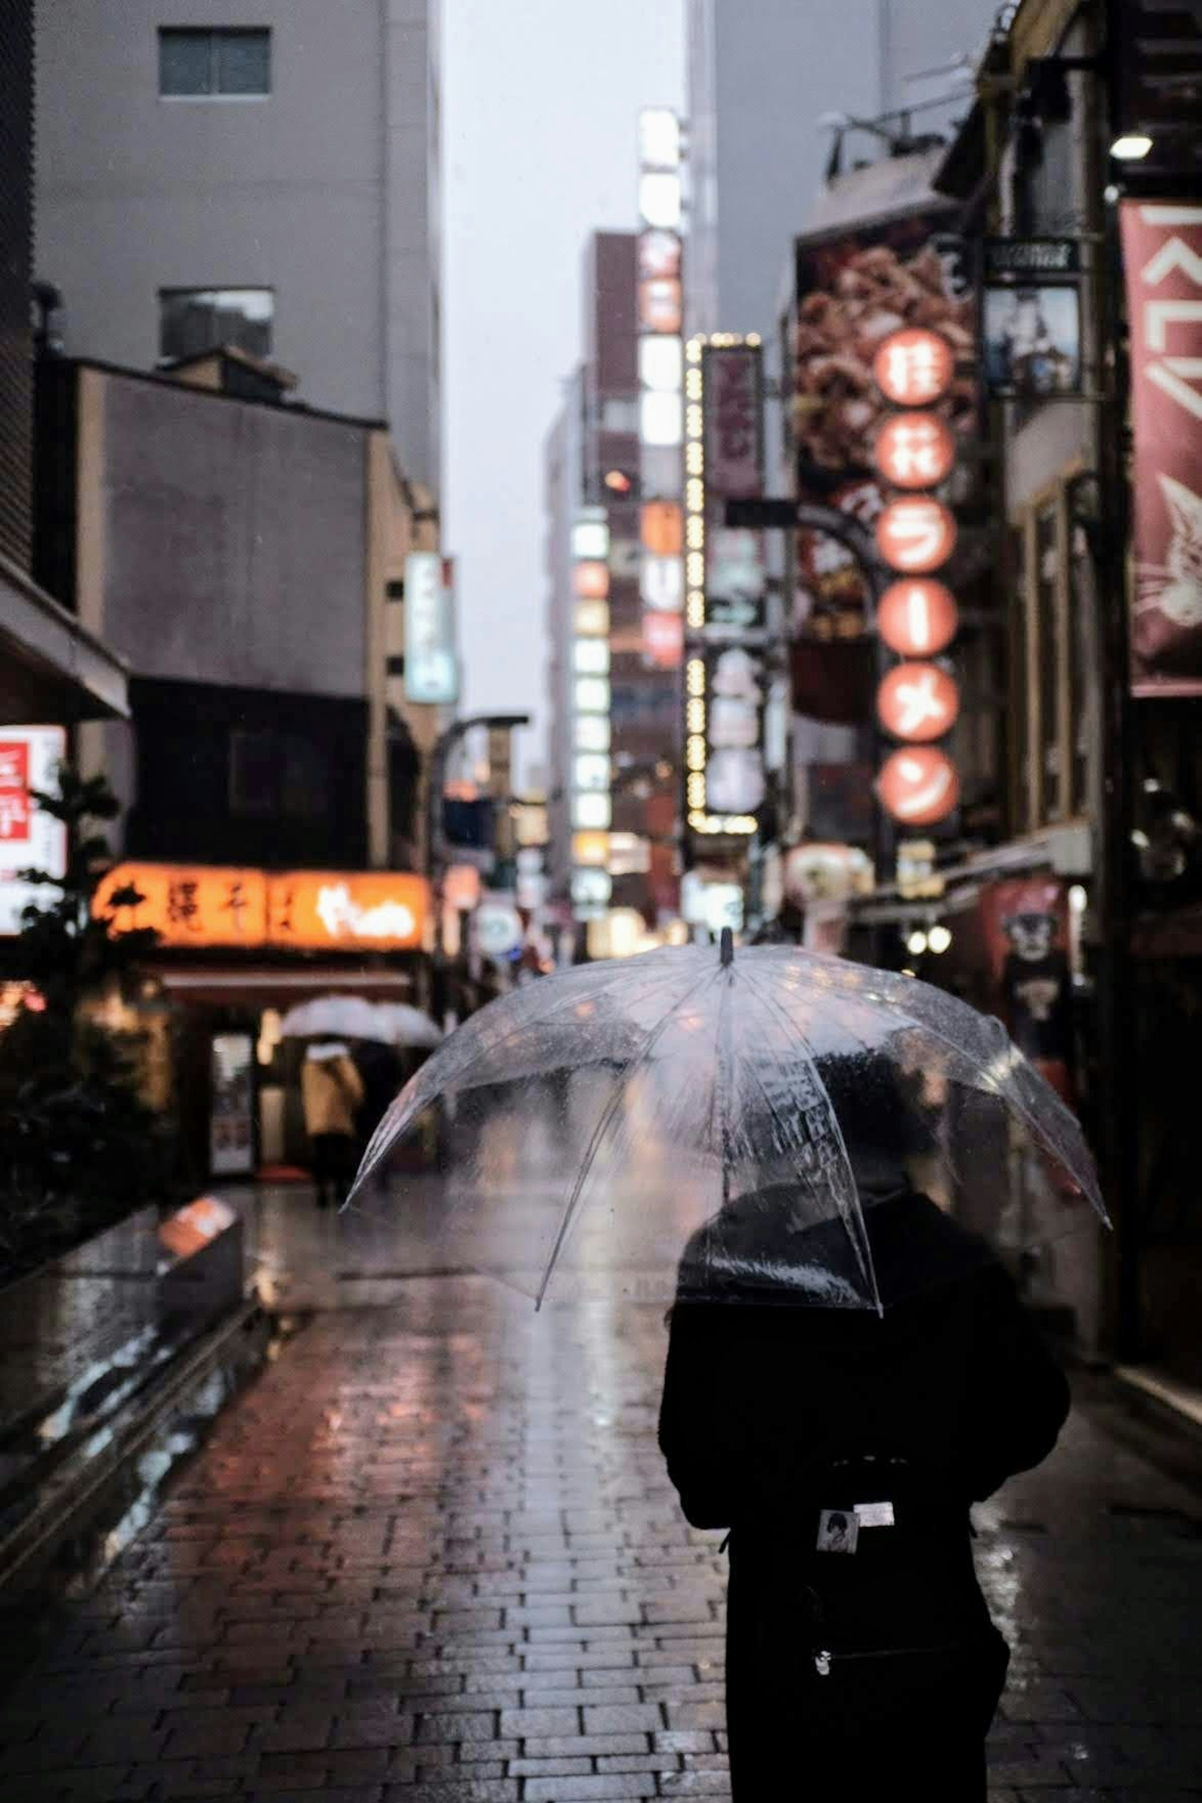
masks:
[[[773,1258],[836,1262],[829,1222],[764,1192],[694,1235],[670,1313],[660,1446],[688,1522],[730,1542],[732,1794],[804,1780],[816,1798],[984,1803],[1009,1652],[970,1504],[1052,1450],[1069,1387],[1002,1266],[914,1188],[932,1150],[917,1087],[863,1055],[822,1080],[879,1313],[782,1307],[748,1284]],[[715,1264],[737,1273],[723,1296]]]

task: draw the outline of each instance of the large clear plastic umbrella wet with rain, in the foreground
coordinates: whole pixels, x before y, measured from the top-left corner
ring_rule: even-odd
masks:
[[[351,1197],[431,1109],[451,1167],[423,1230],[537,1302],[555,1277],[879,1309],[1106,1219],[1076,1118],[998,1020],[793,947],[726,938],[501,997],[396,1098]],[[897,1231],[921,1190],[973,1233]]]

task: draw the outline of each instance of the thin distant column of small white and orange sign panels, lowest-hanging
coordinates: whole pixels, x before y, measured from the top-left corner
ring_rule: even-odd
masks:
[[[600,920],[609,876],[609,521],[586,507],[571,526],[571,912]]]

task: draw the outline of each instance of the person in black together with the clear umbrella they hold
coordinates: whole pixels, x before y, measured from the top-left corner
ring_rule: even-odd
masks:
[[[548,1181],[524,1129],[573,1073]],[[481,1010],[393,1103],[357,1188],[463,1098],[499,1112],[505,1156],[460,1147],[429,1222],[449,1260],[535,1307],[560,1273],[672,1300],[660,1444],[688,1520],[728,1534],[737,1803],[984,1799],[1009,1655],[970,1507],[1067,1414],[1007,1271],[1108,1224],[1076,1118],[946,992],[784,945],[735,957],[730,932],[717,957],[577,966]],[[998,1145],[1067,1181],[1016,1210]],[[923,1185],[971,1203],[982,1237]]]

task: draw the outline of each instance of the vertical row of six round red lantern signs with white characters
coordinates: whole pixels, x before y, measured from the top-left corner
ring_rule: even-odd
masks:
[[[901,662],[881,680],[876,712],[899,739],[878,775],[881,806],[901,828],[937,826],[961,795],[955,764],[939,746],[952,732],[961,694],[935,662],[957,631],[952,591],[935,579],[955,550],[957,526],[933,490],[955,469],[955,436],[935,411],[955,377],[952,346],[937,332],[894,332],[874,362],[890,413],[876,436],[876,467],[888,498],[876,521],[876,545],[896,581],[881,597],[878,631]]]

